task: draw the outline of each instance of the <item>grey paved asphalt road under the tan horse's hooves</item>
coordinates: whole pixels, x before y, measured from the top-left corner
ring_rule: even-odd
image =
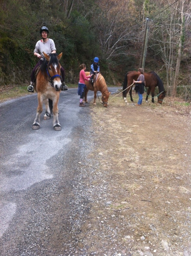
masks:
[[[69,89],[60,94],[61,131],[53,130],[52,118],[43,120],[44,111],[40,129],[32,130],[36,93],[0,104],[1,256],[75,252],[70,239],[86,200],[80,197],[78,163],[93,150],[91,109],[78,107],[76,93]]]

